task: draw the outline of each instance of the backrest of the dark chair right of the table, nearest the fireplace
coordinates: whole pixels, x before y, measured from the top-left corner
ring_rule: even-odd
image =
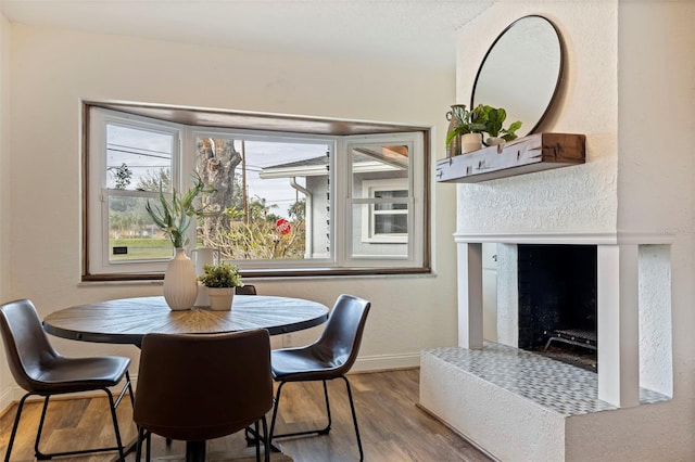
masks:
[[[352,368],[357,359],[362,334],[371,304],[354,295],[340,295],[333,305],[326,329],[314,347],[332,356],[333,362],[342,364],[340,373]]]

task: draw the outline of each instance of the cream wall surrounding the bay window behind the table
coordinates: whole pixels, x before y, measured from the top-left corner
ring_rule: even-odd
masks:
[[[432,161],[443,157],[453,73],[20,24],[11,33],[13,195],[2,219],[12,217],[12,246],[3,242],[2,253],[11,253],[13,270],[3,299],[29,297],[42,316],[80,303],[162,293],[151,284],[79,285],[80,98],[431,125]],[[456,342],[454,189],[435,184],[432,204],[437,275],[255,283],[265,294],[312,294],[327,305],[341,293],[369,298],[359,365],[417,364],[421,348]],[[61,339],[55,345],[68,355],[86,346]],[[137,357],[129,346],[89,345],[89,351]]]

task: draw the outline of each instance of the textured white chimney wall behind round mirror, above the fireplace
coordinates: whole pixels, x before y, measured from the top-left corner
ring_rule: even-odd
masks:
[[[459,232],[616,229],[617,3],[500,2],[458,35],[457,100],[468,103],[479,63],[509,23],[543,14],[564,37],[560,98],[541,131],[586,134],[582,166],[458,185]]]

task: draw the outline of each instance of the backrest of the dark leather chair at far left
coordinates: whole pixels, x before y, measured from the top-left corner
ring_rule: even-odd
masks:
[[[34,304],[21,299],[0,306],[0,332],[17,385],[27,392],[40,388],[42,364],[60,355],[49,343]]]

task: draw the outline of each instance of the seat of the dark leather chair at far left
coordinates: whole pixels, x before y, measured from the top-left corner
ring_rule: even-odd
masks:
[[[36,381],[36,392],[72,393],[115,386],[123,380],[130,358],[103,356],[93,358],[51,358],[27,372]]]

